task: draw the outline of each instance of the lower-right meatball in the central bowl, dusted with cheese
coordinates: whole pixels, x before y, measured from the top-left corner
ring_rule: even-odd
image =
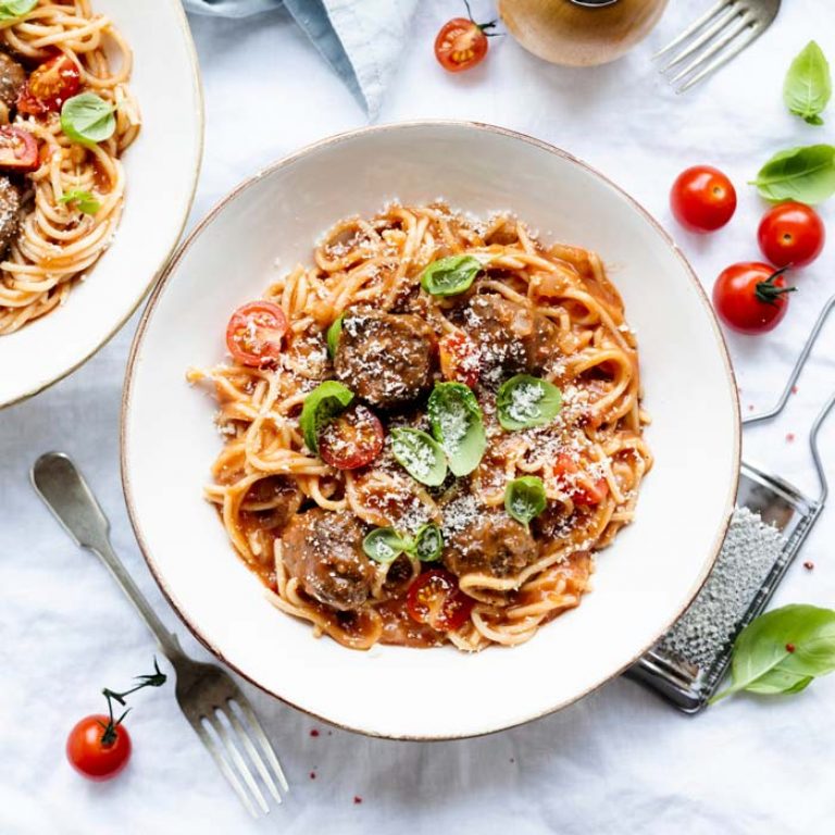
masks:
[[[484,511],[447,537],[444,564],[458,576],[519,574],[538,557],[531,532],[503,511]]]

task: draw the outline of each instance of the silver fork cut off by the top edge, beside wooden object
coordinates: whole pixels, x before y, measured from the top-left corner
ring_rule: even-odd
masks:
[[[774,22],[780,4],[781,0],[719,0],[653,58],[670,57],[661,72],[676,92],[684,92],[753,43]]]

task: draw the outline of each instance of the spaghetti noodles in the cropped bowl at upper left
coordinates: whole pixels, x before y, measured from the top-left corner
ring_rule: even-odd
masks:
[[[63,304],[109,246],[125,194],[120,157],[140,119],[127,86],[130,48],[89,0],[39,0],[21,18],[0,24],[0,50],[24,66],[29,82],[38,68],[65,61],[61,78],[70,79],[73,92],[95,94],[115,117],[111,136],[80,142],[62,129],[60,98],[51,105],[33,108],[29,100],[26,108],[18,98],[0,107],[0,124],[11,123],[38,146],[37,167],[14,183],[20,209],[0,262],[1,335]]]

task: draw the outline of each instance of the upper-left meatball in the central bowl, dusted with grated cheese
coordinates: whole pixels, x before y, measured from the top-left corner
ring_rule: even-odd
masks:
[[[410,313],[363,310],[342,322],[336,376],[372,406],[403,406],[429,384],[435,334]]]

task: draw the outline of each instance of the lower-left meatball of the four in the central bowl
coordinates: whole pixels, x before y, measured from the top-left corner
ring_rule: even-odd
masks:
[[[285,528],[284,564],[315,600],[339,611],[358,609],[369,599],[376,575],[362,552],[362,538],[353,514],[314,508]]]

